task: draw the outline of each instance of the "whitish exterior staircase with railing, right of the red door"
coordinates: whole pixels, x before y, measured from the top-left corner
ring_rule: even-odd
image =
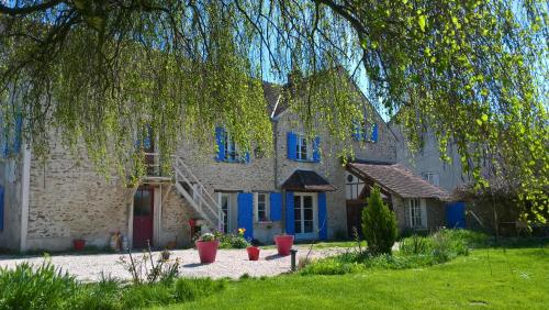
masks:
[[[173,156],[175,187],[203,220],[202,232],[223,231],[224,213],[220,203],[179,156]]]

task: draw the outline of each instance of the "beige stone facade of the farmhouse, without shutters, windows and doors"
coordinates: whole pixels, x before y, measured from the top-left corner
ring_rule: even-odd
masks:
[[[283,232],[285,228],[285,192],[281,188],[282,184],[296,169],[316,171],[337,188],[326,192],[327,237],[332,239],[347,234],[346,169],[338,157],[341,143],[351,144],[357,159],[397,160],[396,137],[393,131],[378,114],[374,115],[374,122],[379,126],[377,142],[359,143],[350,137],[341,142],[321,132],[318,163],[288,158],[288,132],[303,133],[298,117],[290,110],[272,118],[272,156],[250,154],[249,163],[217,162],[214,136],[210,148],[200,147],[194,141],[182,140],[175,155],[182,158],[214,199],[221,198],[221,193],[225,192],[229,195],[235,207],[239,192],[281,192],[282,220],[254,221],[254,239],[264,243],[271,243],[273,235]],[[7,170],[5,164],[0,165],[2,176]],[[105,179],[97,174],[86,152],[74,155],[56,145],[45,162],[31,157],[29,179],[30,203],[25,222],[18,200],[18,197],[23,196],[13,195],[22,192],[18,177],[11,185],[5,181],[5,177],[0,178],[0,182],[7,188],[10,187],[4,219],[10,225],[0,232],[0,247],[61,251],[70,248],[75,239],[85,239],[88,245],[104,247],[115,231],[120,231],[128,239],[128,243],[132,243],[136,188],[126,187],[119,177]],[[190,246],[189,220],[198,219],[199,213],[178,192],[170,179],[147,182],[147,187],[152,188],[154,193],[153,245]],[[399,225],[404,229],[406,212],[403,200],[393,198],[393,207]],[[428,206],[429,226],[439,222],[440,212],[437,208]],[[237,208],[233,207],[231,210],[229,221],[231,226],[236,229]],[[21,242],[21,237],[24,242]]]

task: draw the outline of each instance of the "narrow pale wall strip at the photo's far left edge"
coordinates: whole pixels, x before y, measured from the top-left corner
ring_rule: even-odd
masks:
[[[0,251],[20,250],[22,157],[0,158],[0,186],[4,189],[3,230],[0,231]]]

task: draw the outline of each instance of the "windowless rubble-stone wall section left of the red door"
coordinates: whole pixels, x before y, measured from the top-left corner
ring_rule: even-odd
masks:
[[[81,154],[57,145],[45,163],[32,158],[29,250],[67,250],[75,239],[103,247],[115,230],[127,235],[131,189],[97,174]]]

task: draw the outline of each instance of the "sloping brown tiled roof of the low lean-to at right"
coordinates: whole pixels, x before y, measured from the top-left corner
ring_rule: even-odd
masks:
[[[447,200],[444,189],[414,175],[401,164],[349,163],[347,169],[360,178],[370,179],[402,198],[436,198]]]

